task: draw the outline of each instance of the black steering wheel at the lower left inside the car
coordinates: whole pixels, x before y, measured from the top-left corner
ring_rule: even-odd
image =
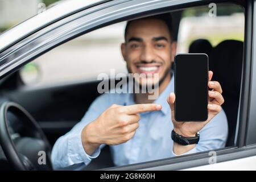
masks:
[[[35,119],[22,106],[0,107],[0,144],[16,170],[52,170],[51,146]]]

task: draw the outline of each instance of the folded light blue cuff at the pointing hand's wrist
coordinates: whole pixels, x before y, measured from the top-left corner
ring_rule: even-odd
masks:
[[[81,133],[82,130],[68,139],[69,165],[82,162],[85,163],[85,165],[88,165],[92,159],[97,158],[98,155],[100,155],[100,147],[98,147],[92,155],[86,154],[84,147],[82,146]]]

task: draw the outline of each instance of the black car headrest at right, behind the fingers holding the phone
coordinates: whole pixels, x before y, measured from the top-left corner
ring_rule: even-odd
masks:
[[[240,94],[242,58],[243,42],[237,40],[224,40],[212,49],[209,56],[213,79],[221,83],[225,92],[235,97]]]

